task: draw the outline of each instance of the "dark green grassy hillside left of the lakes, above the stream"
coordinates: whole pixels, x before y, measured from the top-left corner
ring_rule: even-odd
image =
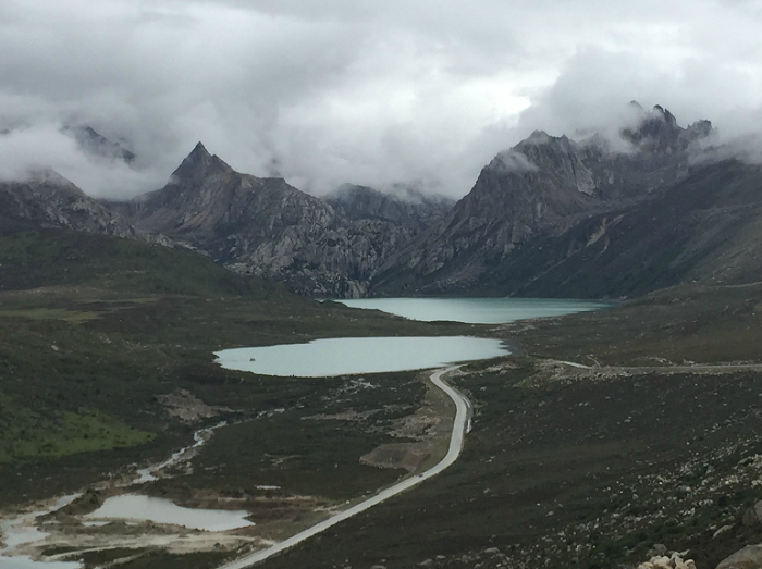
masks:
[[[0,235],[0,504],[81,487],[187,444],[204,419],[171,416],[168,394],[223,409],[219,421],[310,394],[320,404],[335,388],[228,372],[213,362],[218,349],[472,329],[320,304],[189,250],[62,231]],[[357,457],[373,447],[362,443]]]

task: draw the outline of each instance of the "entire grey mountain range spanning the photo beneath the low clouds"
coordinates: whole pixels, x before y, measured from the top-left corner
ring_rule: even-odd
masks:
[[[684,128],[631,104],[624,150],[538,131],[455,203],[352,185],[320,199],[199,143],[163,188],[131,201],[98,203],[52,172],[1,183],[0,221],[183,245],[311,296],[600,298],[758,281],[761,169],[706,160],[708,121]]]

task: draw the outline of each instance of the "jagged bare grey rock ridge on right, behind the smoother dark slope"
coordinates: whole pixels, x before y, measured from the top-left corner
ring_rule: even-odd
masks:
[[[385,263],[371,292],[539,295],[532,283],[551,267],[550,257],[557,261],[579,249],[577,240],[562,236],[591,224],[587,238],[597,242],[620,219],[615,212],[639,211],[669,194],[689,177],[693,150],[711,132],[708,121],[683,128],[659,106],[640,112],[637,128],[623,129],[625,151],[600,136],[577,143],[534,132],[500,152],[441,222]],[[641,231],[648,231],[644,223]],[[539,258],[524,257],[539,248]],[[595,296],[578,288],[574,294],[580,293]],[[558,285],[553,294],[570,292]]]

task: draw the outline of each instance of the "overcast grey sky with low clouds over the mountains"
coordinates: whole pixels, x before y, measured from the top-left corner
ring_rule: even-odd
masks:
[[[533,129],[667,107],[762,127],[759,0],[0,0],[0,175],[52,165],[96,196],[161,187],[202,140],[321,194],[466,194]],[[131,140],[134,169],[62,124]]]

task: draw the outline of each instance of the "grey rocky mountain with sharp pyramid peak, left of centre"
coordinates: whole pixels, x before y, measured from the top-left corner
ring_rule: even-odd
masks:
[[[161,189],[105,202],[243,274],[315,296],[361,296],[373,271],[411,238],[385,219],[348,219],[280,177],[234,171],[199,143]]]

